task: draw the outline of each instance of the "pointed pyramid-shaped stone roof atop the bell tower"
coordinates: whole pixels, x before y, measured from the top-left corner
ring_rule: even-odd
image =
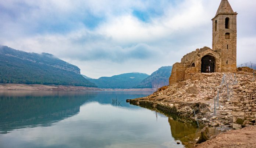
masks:
[[[219,8],[217,10],[217,13],[216,13],[214,18],[216,18],[220,14],[231,14],[231,15],[236,14],[237,15],[237,12],[233,11],[233,9],[232,9],[230,3],[228,2],[228,0],[221,0],[220,6],[219,6]]]

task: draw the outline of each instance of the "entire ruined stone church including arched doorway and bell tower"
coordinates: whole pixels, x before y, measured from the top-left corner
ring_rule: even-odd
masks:
[[[189,73],[237,71],[237,12],[228,0],[221,0],[212,21],[212,49],[196,49],[175,63],[169,85],[189,79]]]

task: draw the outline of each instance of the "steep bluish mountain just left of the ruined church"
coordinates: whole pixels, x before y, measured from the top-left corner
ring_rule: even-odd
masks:
[[[164,66],[153,72],[146,79],[136,86],[136,88],[159,88],[169,85],[172,66]]]

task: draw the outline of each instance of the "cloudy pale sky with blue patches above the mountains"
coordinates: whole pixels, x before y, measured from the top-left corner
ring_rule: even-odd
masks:
[[[221,0],[0,0],[0,45],[50,53],[99,78],[151,74],[204,46]],[[256,63],[256,1],[229,0],[237,64]]]

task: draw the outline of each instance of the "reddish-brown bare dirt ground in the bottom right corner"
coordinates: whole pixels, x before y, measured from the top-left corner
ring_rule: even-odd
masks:
[[[197,148],[256,148],[256,126],[218,134],[209,141],[195,145]]]

